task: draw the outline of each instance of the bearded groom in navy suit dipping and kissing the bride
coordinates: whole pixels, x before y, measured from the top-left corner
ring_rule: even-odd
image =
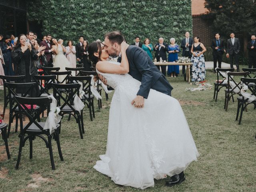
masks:
[[[118,62],[121,62],[120,44],[124,41],[124,36],[119,31],[113,31],[105,35],[105,50],[110,56],[119,56]],[[154,65],[148,54],[138,46],[129,46],[126,50],[129,62],[129,74],[141,82],[137,96],[132,100],[132,105],[136,108],[144,106],[144,98],[148,98],[150,88],[171,96],[172,86],[166,80],[165,76]],[[103,76],[100,79],[104,84],[107,83]],[[166,186],[180,184],[185,180],[184,173],[174,175]]]

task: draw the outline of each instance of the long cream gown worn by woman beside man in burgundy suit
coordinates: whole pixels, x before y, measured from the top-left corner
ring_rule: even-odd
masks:
[[[54,56],[54,67],[59,67],[60,68],[60,72],[61,71],[67,71],[65,68],[66,67],[72,67],[69,60],[64,56],[63,53],[63,49],[61,45],[58,45],[58,54],[56,54]],[[66,75],[60,75],[58,76],[58,80],[59,82],[62,82],[62,80],[64,80],[64,78],[66,77]]]

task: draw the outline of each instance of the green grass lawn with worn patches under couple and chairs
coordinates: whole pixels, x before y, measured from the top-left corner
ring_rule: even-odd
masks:
[[[242,66],[241,66],[242,68]],[[206,80],[213,85],[216,74],[208,70]],[[190,130],[200,153],[197,162],[192,162],[185,171],[186,180],[174,187],[164,186],[165,180],[156,180],[148,192],[255,192],[256,191],[256,111],[253,106],[243,114],[242,124],[235,121],[237,100],[230,102],[228,112],[224,107],[224,89],[218,101],[213,98],[213,89],[186,91],[196,87],[182,77],[168,78],[174,90],[172,96],[180,101]],[[0,104],[3,91],[0,90]],[[103,108],[96,111],[90,121],[84,110],[84,139],[80,139],[74,119],[62,120],[60,142],[64,161],[60,161],[56,142],[53,142],[56,170],[51,169],[48,148],[40,138],[33,143],[33,159],[29,159],[29,142],[22,149],[18,170],[18,133],[11,130],[8,139],[11,159],[6,160],[4,142],[0,140],[0,192],[136,192],[132,187],[118,186],[107,176],[93,169],[98,155],[106,150],[108,113],[112,94]],[[95,108],[97,102],[95,102]],[[171,118],[171,117],[170,117]],[[14,125],[14,124],[13,124]],[[172,146],[166,146],[172,148]]]

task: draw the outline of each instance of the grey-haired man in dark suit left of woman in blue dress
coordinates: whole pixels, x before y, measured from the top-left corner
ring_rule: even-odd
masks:
[[[166,61],[167,58],[166,58],[166,51],[168,51],[168,45],[166,43],[164,43],[164,38],[160,37],[158,39],[159,43],[156,43],[155,44],[155,47],[154,47],[154,51],[156,51],[156,54],[155,54],[155,58],[156,58],[156,61],[160,61],[160,58],[162,58],[162,60]],[[160,70],[160,66],[158,65],[157,68]],[[161,65],[161,70],[162,70],[162,74],[164,76],[166,76],[166,65]]]

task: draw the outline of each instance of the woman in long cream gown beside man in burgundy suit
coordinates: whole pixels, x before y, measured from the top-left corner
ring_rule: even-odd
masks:
[[[64,56],[64,52],[66,52],[66,48],[63,46],[63,40],[59,39],[58,42],[56,39],[52,39],[53,46],[52,48],[54,49],[54,67],[59,67],[60,72],[61,71],[66,71],[66,67],[71,67],[71,64],[69,60]],[[59,75],[58,76],[58,81],[62,82],[65,78],[65,75]]]

